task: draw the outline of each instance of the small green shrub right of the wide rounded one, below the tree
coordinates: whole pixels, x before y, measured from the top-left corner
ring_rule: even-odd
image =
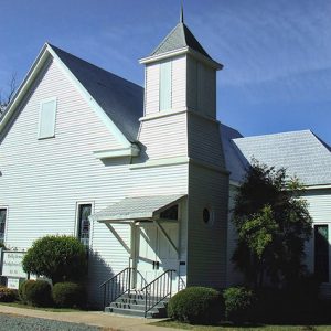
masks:
[[[229,287],[223,291],[223,298],[226,320],[241,323],[248,319],[254,301],[252,290],[245,287]]]

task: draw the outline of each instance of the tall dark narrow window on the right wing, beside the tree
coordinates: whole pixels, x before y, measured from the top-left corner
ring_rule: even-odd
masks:
[[[314,275],[329,282],[329,229],[328,225],[314,226]]]

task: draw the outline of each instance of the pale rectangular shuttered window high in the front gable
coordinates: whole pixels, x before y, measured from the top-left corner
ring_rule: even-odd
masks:
[[[56,99],[41,102],[38,138],[55,137]]]

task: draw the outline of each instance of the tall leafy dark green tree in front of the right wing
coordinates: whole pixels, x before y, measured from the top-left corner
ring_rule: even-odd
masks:
[[[233,261],[255,288],[263,287],[266,278],[274,285],[288,284],[305,271],[305,242],[311,236],[312,220],[302,193],[302,184],[288,179],[284,168],[256,160],[238,188]]]

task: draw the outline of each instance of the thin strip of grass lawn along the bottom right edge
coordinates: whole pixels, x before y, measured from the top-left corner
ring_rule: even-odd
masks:
[[[174,321],[161,321],[152,323],[156,327],[166,327],[183,330],[202,330],[202,331],[331,331],[331,325],[244,325],[244,327],[232,327],[228,324],[220,327],[211,325],[191,325],[186,323],[179,323]]]

